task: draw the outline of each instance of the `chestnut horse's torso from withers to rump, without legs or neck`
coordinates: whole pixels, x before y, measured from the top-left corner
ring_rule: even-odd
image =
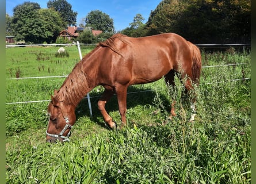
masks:
[[[110,73],[129,85],[157,81],[171,70],[178,70],[179,65],[192,66],[188,41],[175,33],[139,38],[117,34],[106,44],[116,52],[109,53]]]

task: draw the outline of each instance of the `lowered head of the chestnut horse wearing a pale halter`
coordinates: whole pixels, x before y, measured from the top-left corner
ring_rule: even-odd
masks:
[[[75,123],[75,109],[71,105],[65,105],[56,97],[51,96],[52,100],[48,105],[49,122],[46,131],[46,140],[54,143],[56,140],[61,142],[69,141],[72,125]]]

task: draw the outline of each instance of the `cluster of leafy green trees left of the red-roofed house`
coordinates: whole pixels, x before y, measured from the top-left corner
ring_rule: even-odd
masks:
[[[77,21],[77,12],[66,0],[50,0],[47,7],[29,1],[17,5],[13,17],[6,14],[6,34],[26,43],[52,43],[63,28]]]

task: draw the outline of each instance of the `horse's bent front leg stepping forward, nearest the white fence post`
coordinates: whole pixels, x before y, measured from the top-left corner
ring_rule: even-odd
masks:
[[[110,128],[115,129],[116,123],[112,120],[112,117],[109,116],[109,114],[106,112],[106,109],[105,109],[106,102],[109,101],[109,99],[113,96],[113,94],[114,94],[114,91],[112,89],[105,88],[105,91],[102,94],[102,97],[98,101],[98,109],[100,110],[106,124]]]

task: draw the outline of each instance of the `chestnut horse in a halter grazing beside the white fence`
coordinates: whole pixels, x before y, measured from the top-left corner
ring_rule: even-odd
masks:
[[[175,71],[181,72],[182,78],[188,76],[187,90],[193,88],[192,83],[198,84],[201,53],[196,45],[175,33],[139,38],[114,34],[83,57],[51,96],[47,141],[69,141],[71,127],[76,121],[75,108],[94,87],[105,88],[98,109],[106,124],[114,129],[116,123],[105,110],[113,94],[117,95],[122,127],[126,124],[128,86],[154,82],[163,76],[167,83],[174,85]],[[174,115],[172,105],[171,116]]]

